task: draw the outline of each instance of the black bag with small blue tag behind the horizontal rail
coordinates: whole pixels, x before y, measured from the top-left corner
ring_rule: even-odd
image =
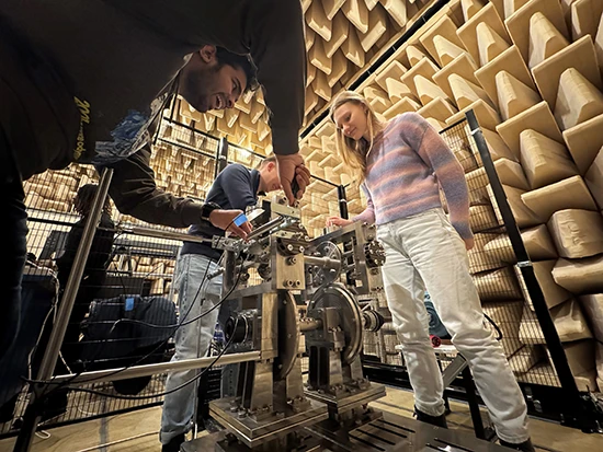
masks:
[[[94,300],[90,304],[88,318],[82,323],[81,357],[86,370],[169,360],[168,340],[175,332],[175,326],[171,325],[177,322],[174,303],[162,297],[120,295]],[[121,394],[134,395],[143,391],[150,380],[150,375],[116,380],[113,386]]]

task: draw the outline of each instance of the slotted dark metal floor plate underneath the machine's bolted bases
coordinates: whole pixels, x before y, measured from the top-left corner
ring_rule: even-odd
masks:
[[[320,444],[308,444],[309,449],[298,449],[312,452],[505,452],[511,451],[498,444],[479,440],[469,433],[457,430],[446,430],[419,422],[414,419],[379,413],[376,419],[345,429],[333,420],[325,420],[305,430],[310,432],[312,440],[318,438]],[[224,449],[226,431],[182,444],[182,452],[242,452],[252,449]],[[220,449],[218,449],[220,448]]]

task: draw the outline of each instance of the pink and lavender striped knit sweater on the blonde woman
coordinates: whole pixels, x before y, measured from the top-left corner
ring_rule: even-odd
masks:
[[[430,124],[416,113],[398,115],[375,137],[366,159],[366,209],[354,221],[385,224],[442,207],[463,239],[473,237],[463,166]]]

